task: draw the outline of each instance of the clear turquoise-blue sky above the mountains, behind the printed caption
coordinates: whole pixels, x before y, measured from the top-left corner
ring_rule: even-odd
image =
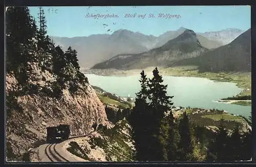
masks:
[[[29,7],[37,18],[38,7]],[[111,7],[43,7],[50,36],[75,37],[92,34],[112,34],[119,29],[159,36],[180,27],[195,32],[219,31],[227,28],[248,30],[250,6],[111,6]],[[134,14],[135,18],[125,18]],[[148,18],[149,14],[154,18]],[[180,18],[158,18],[158,14],[180,15]],[[116,14],[118,18],[86,17],[89,14]],[[145,18],[138,18],[138,15]],[[103,24],[108,26],[103,26]],[[108,31],[110,30],[110,31]]]

